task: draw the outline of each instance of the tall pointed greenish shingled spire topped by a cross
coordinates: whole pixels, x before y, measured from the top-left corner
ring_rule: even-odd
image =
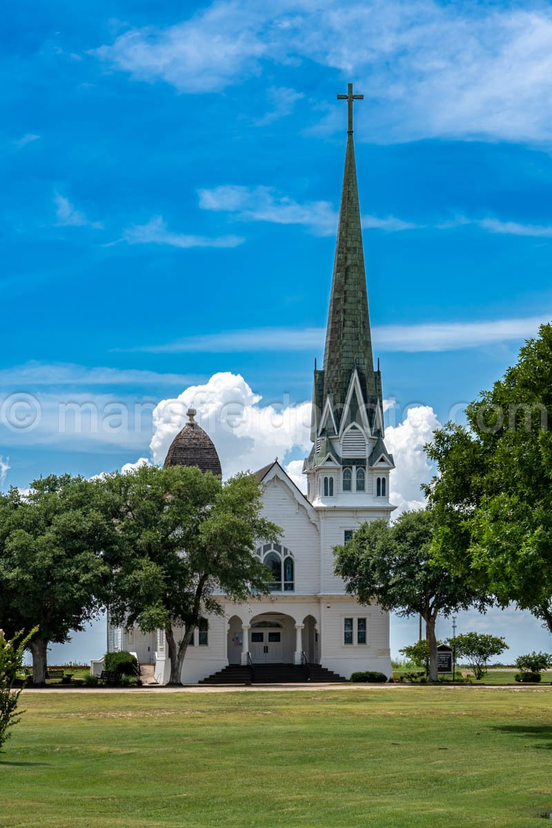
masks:
[[[353,95],[353,84],[348,84],[347,95],[338,95],[348,102],[348,133],[323,367],[323,399],[332,398],[336,413],[343,407],[354,368],[364,402],[368,407],[377,402],[353,144],[353,100],[362,97]]]

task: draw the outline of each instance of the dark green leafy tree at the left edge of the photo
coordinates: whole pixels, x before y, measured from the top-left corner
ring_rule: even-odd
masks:
[[[0,623],[8,634],[38,628],[27,644],[35,685],[46,681],[48,643],[68,641],[98,614],[115,534],[101,481],[52,474],[25,496],[0,495]]]

